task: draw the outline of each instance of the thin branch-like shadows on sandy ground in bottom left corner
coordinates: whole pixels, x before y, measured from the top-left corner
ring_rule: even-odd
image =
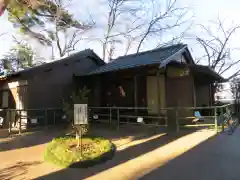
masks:
[[[19,178],[19,176],[24,176],[28,172],[30,166],[39,165],[42,162],[17,162],[16,164],[6,167],[0,170],[0,179],[9,180],[13,178]]]

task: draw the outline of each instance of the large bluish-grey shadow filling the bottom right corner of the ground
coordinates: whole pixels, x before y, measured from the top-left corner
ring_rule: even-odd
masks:
[[[141,180],[239,180],[239,128],[219,134],[146,174]]]

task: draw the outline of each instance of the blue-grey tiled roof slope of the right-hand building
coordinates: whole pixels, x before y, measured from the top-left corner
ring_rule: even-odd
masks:
[[[89,72],[87,75],[101,74],[104,72],[118,71],[151,64],[161,64],[164,60],[173,59],[176,55],[179,55],[179,53],[182,53],[186,49],[187,45],[177,44],[122,56],[94,71]]]

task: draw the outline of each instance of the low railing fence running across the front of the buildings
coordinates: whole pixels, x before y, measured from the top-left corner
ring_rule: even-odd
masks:
[[[207,110],[207,114],[202,114],[202,110]],[[156,112],[157,111],[157,112]],[[193,120],[199,117],[194,116],[194,112],[199,111],[201,118],[208,120],[209,125],[214,125],[216,132],[219,127],[224,131],[226,124],[232,118],[232,105],[209,106],[209,107],[168,107],[151,109],[146,107],[89,107],[89,122],[104,122],[116,125],[119,129],[122,124],[145,125],[156,127],[173,127],[179,132],[184,124],[192,124]],[[155,113],[153,113],[155,112]],[[56,125],[62,121],[64,112],[60,108],[42,109],[0,109],[0,113],[5,114],[8,119],[9,132],[12,123],[19,124],[19,133],[22,131],[24,121],[37,119],[35,125],[46,127]],[[0,114],[2,117],[2,115]],[[236,125],[234,121],[232,124]]]

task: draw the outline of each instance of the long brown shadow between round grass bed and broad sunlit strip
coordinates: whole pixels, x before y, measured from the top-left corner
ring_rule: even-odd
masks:
[[[101,133],[103,129],[98,129],[98,132]],[[146,130],[146,129],[145,129]],[[109,131],[102,131],[103,137],[111,137],[111,138],[119,138],[124,136],[131,136],[131,134],[137,134],[136,132],[133,133],[135,130],[129,130],[127,128],[120,128],[119,133],[109,132]],[[139,131],[136,130],[136,131]],[[106,132],[108,132],[106,134]],[[36,179],[44,179],[44,180],[50,180],[50,179],[84,179],[91,177],[93,175],[96,175],[102,171],[108,170],[110,168],[113,168],[117,165],[120,165],[122,163],[127,162],[128,160],[134,159],[138,156],[141,156],[143,154],[146,154],[148,152],[151,152],[161,146],[164,146],[182,136],[185,136],[187,134],[192,133],[192,131],[183,131],[182,133],[172,133],[171,135],[161,135],[161,136],[155,136],[156,138],[150,139],[148,141],[143,141],[142,143],[135,144],[133,146],[126,147],[125,149],[122,149],[120,151],[117,151],[114,158],[112,160],[109,160],[105,162],[104,164],[100,164],[94,167],[90,167],[88,169],[63,169],[42,177],[38,177]],[[111,136],[113,134],[113,136]],[[115,135],[114,135],[115,134]],[[140,135],[142,134],[142,136]],[[140,140],[152,137],[154,135],[163,134],[162,131],[159,132],[157,129],[148,129],[147,133],[140,133],[139,135],[134,136],[134,140]],[[144,135],[143,135],[144,134]],[[153,157],[154,158],[154,157]],[[127,171],[127,169],[126,169]],[[119,175],[121,176],[121,175]]]

